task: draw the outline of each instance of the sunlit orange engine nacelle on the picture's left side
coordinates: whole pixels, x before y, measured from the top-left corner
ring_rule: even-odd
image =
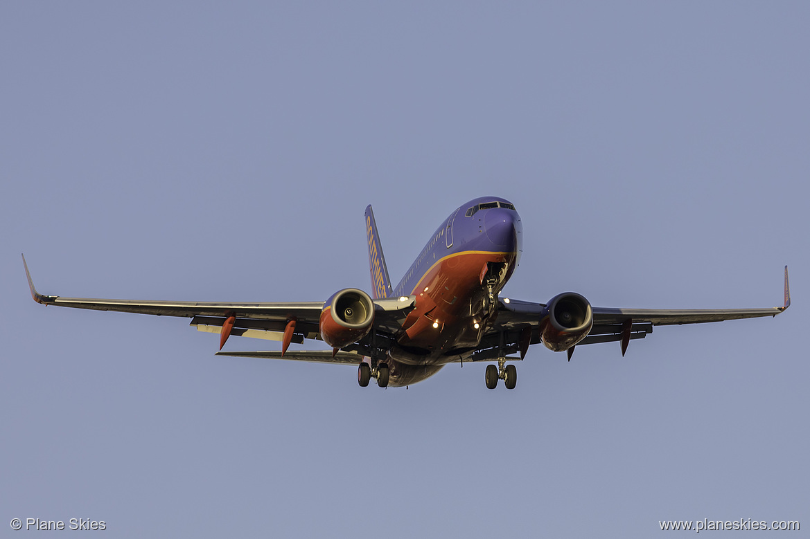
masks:
[[[323,342],[343,348],[369,334],[374,323],[374,302],[364,291],[346,288],[323,304],[320,332]]]

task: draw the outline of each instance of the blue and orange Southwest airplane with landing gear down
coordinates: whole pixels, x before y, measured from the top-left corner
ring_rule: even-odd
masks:
[[[392,286],[371,206],[365,210],[372,293],[356,288],[326,301],[300,303],[206,303],[63,298],[36,291],[23,255],[31,295],[37,303],[100,311],[185,316],[198,331],[220,334],[217,355],[292,359],[357,368],[360,386],[407,387],[449,363],[488,363],[487,388],[517,383],[514,361],[531,345],[566,352],[577,346],[629,342],[656,325],[697,324],[776,316],[791,304],[785,266],[784,305],[761,309],[660,310],[592,307],[576,292],[548,303],[501,297],[522,253],[522,223],[514,204],[480,197],[458,206],[430,237],[396,286]],[[281,342],[281,350],[224,352],[228,337]],[[288,350],[305,339],[332,350]],[[510,354],[518,354],[517,356]],[[509,363],[507,363],[509,362]]]

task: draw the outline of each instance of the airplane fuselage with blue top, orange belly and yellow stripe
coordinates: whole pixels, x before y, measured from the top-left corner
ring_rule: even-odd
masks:
[[[388,352],[390,385],[424,380],[475,350],[521,251],[520,216],[505,199],[476,198],[441,223],[394,287],[394,297],[416,295],[416,308]]]

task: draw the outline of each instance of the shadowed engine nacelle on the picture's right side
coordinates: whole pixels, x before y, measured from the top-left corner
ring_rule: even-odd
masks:
[[[565,292],[548,302],[540,318],[540,338],[549,350],[562,352],[582,341],[593,325],[588,300],[576,292]]]

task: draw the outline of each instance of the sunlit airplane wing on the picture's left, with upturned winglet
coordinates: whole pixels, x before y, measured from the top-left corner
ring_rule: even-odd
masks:
[[[191,325],[200,331],[220,333],[228,316],[235,316],[230,334],[282,340],[289,320],[296,320],[295,334],[291,342],[303,342],[304,338],[318,338],[318,320],[324,305],[314,302],[258,302],[220,303],[195,301],[134,301],[130,299],[66,298],[58,295],[43,295],[36,291],[23,256],[28,287],[36,303],[92,309],[95,311],[137,312],[156,316],[183,316],[191,318]],[[382,332],[395,331],[401,327],[415,298],[377,299],[374,301],[374,327]]]

